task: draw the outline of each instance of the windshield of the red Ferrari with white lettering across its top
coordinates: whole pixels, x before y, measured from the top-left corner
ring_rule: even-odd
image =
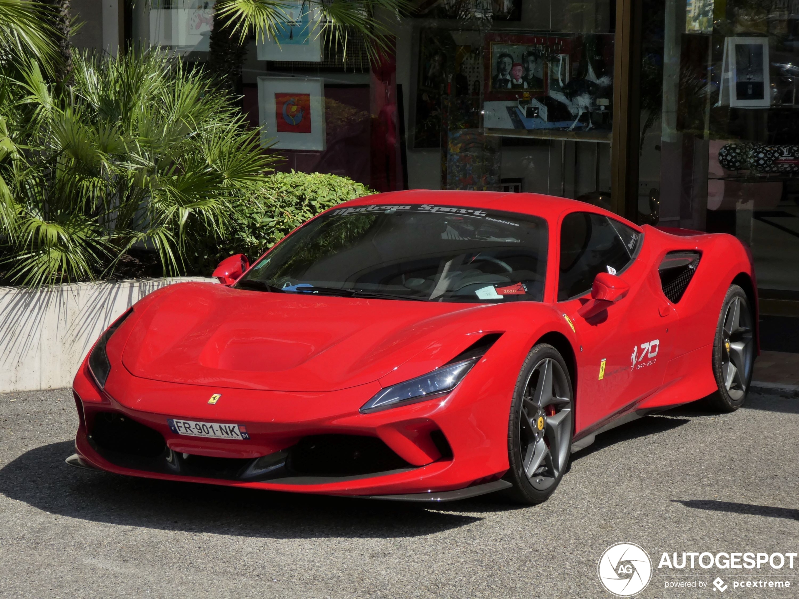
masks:
[[[541,301],[547,223],[435,204],[340,208],[268,252],[236,288],[396,300]]]

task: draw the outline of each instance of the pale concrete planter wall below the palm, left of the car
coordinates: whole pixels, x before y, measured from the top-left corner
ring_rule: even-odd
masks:
[[[100,333],[144,296],[201,277],[0,288],[0,393],[70,387]]]

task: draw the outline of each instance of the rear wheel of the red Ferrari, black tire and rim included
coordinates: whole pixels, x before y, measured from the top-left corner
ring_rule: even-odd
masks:
[[[744,290],[730,285],[721,303],[713,343],[713,374],[718,390],[707,398],[711,408],[733,412],[743,405],[752,382],[754,357],[752,307]]]

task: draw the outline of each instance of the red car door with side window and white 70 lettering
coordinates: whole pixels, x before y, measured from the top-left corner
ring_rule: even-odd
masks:
[[[596,428],[662,386],[674,315],[663,310],[657,274],[640,259],[642,232],[602,214],[571,212],[562,219],[559,243],[558,305],[580,343],[576,430]],[[621,277],[630,291],[582,317],[578,310],[592,301],[599,272]]]

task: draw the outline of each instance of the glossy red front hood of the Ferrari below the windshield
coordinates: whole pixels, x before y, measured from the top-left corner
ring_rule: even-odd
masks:
[[[447,362],[491,308],[177,284],[134,307],[121,360],[134,376],[173,383],[337,391],[420,353],[433,368]]]

